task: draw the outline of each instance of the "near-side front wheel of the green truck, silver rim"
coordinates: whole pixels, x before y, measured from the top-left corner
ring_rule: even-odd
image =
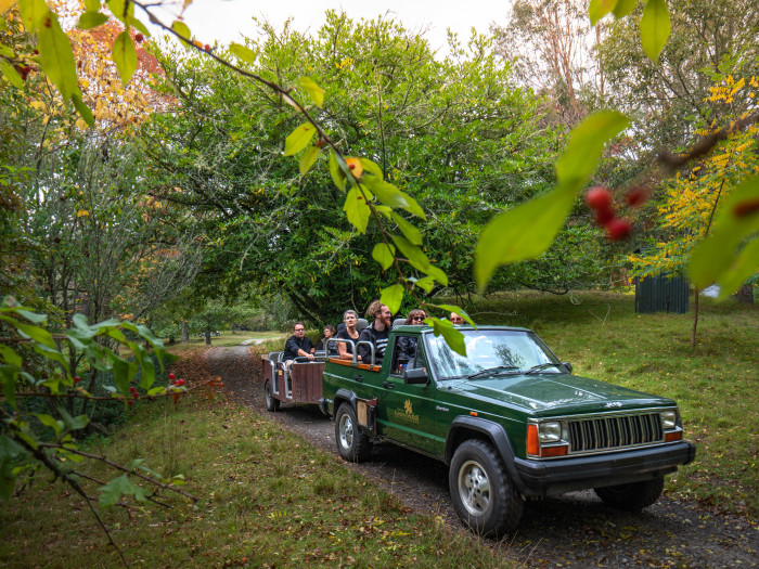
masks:
[[[468,440],[459,445],[448,486],[456,514],[475,533],[501,538],[519,523],[525,503],[487,442]]]

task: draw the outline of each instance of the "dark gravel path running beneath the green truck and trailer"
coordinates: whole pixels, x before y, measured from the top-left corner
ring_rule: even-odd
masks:
[[[206,352],[206,363],[241,403],[337,454],[334,423],[316,405],[283,404],[278,413],[266,412],[260,362],[248,347],[213,348]],[[414,510],[441,516],[455,531],[467,531],[453,510],[443,464],[382,444],[375,445],[370,462],[349,467]],[[716,516],[666,496],[642,513],[617,512],[590,491],[528,502],[517,532],[493,547],[527,567],[759,566],[756,522]]]

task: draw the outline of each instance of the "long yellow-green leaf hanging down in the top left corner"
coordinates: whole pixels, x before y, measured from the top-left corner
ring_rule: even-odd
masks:
[[[80,94],[76,78],[76,62],[68,36],[61,29],[57,16],[48,12],[38,30],[40,62],[48,76],[64,99]]]

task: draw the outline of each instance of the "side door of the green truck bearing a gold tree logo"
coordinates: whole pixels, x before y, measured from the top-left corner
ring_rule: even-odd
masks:
[[[408,357],[412,351],[413,354]],[[388,374],[380,386],[377,418],[383,435],[400,443],[422,451],[441,454],[445,440],[437,434],[435,422],[435,390],[430,380],[423,385],[409,385],[403,382],[406,368],[424,367],[429,370],[424,354],[424,342],[420,336],[397,335],[389,354]]]

